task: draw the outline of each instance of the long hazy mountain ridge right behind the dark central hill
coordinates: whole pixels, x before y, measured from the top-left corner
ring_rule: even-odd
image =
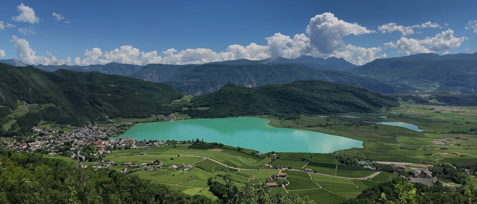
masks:
[[[256,61],[235,60],[234,62],[224,62],[229,64],[202,65],[148,64],[131,76],[154,82],[164,82],[191,95],[214,92],[229,82],[256,87],[309,79],[360,86],[383,94],[400,93],[406,90],[374,78],[361,77],[338,70],[321,70],[299,64],[234,64],[235,62]]]

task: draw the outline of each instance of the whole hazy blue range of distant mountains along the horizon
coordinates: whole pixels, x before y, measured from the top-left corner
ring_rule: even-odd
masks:
[[[0,60],[0,63],[28,65],[15,59]],[[132,76],[166,83],[186,94],[200,95],[217,91],[229,82],[256,87],[309,79],[359,86],[382,94],[415,91],[474,93],[477,88],[476,64],[477,54],[415,54],[376,59],[361,66],[343,58],[323,59],[307,55],[296,59],[275,56],[264,60],[239,59],[187,65],[109,63],[33,66],[45,71],[70,69]]]

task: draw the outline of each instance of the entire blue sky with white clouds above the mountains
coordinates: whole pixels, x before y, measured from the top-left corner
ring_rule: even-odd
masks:
[[[8,0],[0,1],[0,59],[200,64],[307,54],[364,64],[416,53],[471,53],[477,50],[476,6],[475,0]]]

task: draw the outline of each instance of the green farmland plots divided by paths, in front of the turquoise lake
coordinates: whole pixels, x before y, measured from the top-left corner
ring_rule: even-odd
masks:
[[[197,148],[191,148],[196,146]],[[310,162],[301,161],[303,159]],[[374,183],[387,181],[394,177],[394,174],[383,174],[369,181],[363,181],[318,175],[312,172],[286,170],[289,167],[297,170],[311,168],[316,172],[351,178],[364,177],[374,173],[359,166],[337,164],[336,159],[329,154],[283,153],[281,159],[271,161],[269,157],[260,158],[238,150],[187,144],[180,144],[180,147],[175,148],[166,146],[117,150],[108,154],[104,160],[115,161],[120,164],[117,168],[115,167],[116,169],[127,167],[121,166],[125,162],[132,162],[137,165],[143,164],[137,169],[131,168],[133,171],[131,175],[166,184],[171,189],[183,193],[205,195],[216,200],[217,197],[208,191],[207,180],[209,178],[225,184],[225,180],[219,174],[227,171],[232,173],[232,179],[238,186],[247,182],[264,183],[267,178],[280,172],[278,169],[263,167],[267,163],[272,166],[283,167],[284,169],[281,172],[287,173],[286,179],[289,181],[289,184],[285,187],[271,187],[272,193],[296,193],[301,197],[308,195],[317,203],[339,203],[345,199],[356,197],[361,193],[361,189],[366,189]],[[162,162],[163,167],[144,166],[145,163],[150,161]],[[187,171],[183,168],[179,170],[172,168],[172,165],[181,163],[191,164],[193,168],[189,168]],[[155,170],[138,171],[144,167],[153,167]],[[281,184],[282,181],[283,179],[272,182]]]

